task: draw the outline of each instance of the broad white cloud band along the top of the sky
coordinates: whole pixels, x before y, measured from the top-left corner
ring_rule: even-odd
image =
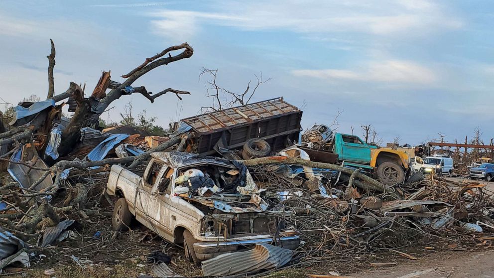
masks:
[[[460,28],[463,22],[427,0],[386,1],[229,1],[212,5],[215,12],[161,10],[152,23],[171,37],[185,28],[193,35],[200,23],[247,30],[286,29],[299,33],[363,32],[376,35],[421,35],[444,28]],[[170,27],[169,27],[170,26]]]

